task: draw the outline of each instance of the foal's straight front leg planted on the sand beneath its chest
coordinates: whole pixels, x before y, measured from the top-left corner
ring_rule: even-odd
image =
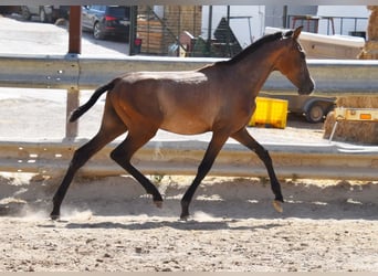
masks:
[[[209,144],[208,149],[206,150],[204,157],[203,157],[200,166],[198,167],[197,176],[181,199],[181,215],[180,215],[181,220],[188,219],[189,205],[190,205],[191,199],[192,199],[198,185],[201,183],[203,178],[210,171],[219,151],[223,147],[228,137],[229,137],[228,135],[219,135],[219,134],[212,135],[212,139]]]

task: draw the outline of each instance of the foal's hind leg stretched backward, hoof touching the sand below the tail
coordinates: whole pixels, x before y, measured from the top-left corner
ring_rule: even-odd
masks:
[[[63,181],[53,198],[53,211],[50,214],[51,219],[56,220],[60,217],[62,201],[76,171],[81,167],[83,167],[85,162],[90,160],[90,158],[93,157],[97,151],[99,151],[106,144],[108,144],[126,130],[126,126],[124,125],[124,123],[122,123],[122,120],[119,120],[113,108],[105,107],[103,124],[97,135],[74,152]]]

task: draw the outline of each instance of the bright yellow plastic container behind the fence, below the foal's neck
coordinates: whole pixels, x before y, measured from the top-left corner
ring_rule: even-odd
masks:
[[[287,120],[287,100],[256,97],[256,109],[249,126],[285,128]]]

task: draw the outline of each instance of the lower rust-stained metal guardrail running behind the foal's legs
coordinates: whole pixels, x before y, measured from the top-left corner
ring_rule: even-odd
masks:
[[[0,170],[62,174],[83,141],[0,141]],[[150,141],[133,158],[148,174],[196,174],[204,141]],[[80,173],[119,176],[125,171],[109,159],[116,144],[95,155]],[[264,145],[279,178],[369,180],[378,178],[378,149],[343,149],[335,145]],[[227,144],[210,171],[212,176],[267,177],[263,163],[240,145]]]

